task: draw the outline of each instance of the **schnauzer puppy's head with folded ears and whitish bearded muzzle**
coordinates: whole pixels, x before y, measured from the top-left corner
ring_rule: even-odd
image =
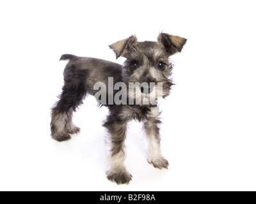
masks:
[[[109,45],[116,59],[120,56],[126,58],[122,78],[129,87],[129,99],[138,99],[136,104],[152,105],[152,101],[170,94],[173,84],[169,57],[181,52],[186,41],[180,36],[161,33],[157,41],[138,42],[136,36],[131,36]]]

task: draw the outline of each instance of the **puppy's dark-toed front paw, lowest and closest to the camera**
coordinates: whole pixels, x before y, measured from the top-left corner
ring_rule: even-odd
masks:
[[[108,180],[111,180],[112,182],[116,182],[116,184],[129,184],[129,182],[132,180],[132,175],[127,172],[126,170],[122,171],[108,171],[107,172],[107,178]]]

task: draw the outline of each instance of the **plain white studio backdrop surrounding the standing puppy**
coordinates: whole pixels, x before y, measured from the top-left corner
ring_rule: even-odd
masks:
[[[1,1],[0,190],[256,190],[255,1]],[[61,92],[61,54],[116,61],[108,45],[159,32],[188,39],[172,57],[172,94],[161,101],[169,170],[145,159],[141,126],[127,135],[129,185],[106,179],[102,120],[88,97],[79,135],[58,143],[50,111]],[[118,62],[124,62],[120,57]]]

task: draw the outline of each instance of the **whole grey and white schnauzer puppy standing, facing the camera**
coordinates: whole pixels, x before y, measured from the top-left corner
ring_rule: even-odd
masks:
[[[72,123],[72,113],[83,103],[86,94],[92,94],[100,105],[109,108],[103,124],[111,142],[109,180],[116,184],[128,184],[131,180],[132,175],[124,165],[124,148],[127,122],[132,119],[143,122],[148,141],[148,163],[159,169],[168,168],[168,161],[160,149],[161,120],[157,98],[170,94],[173,66],[168,58],[180,52],[185,43],[185,38],[166,33],[160,33],[157,41],[138,42],[136,36],[131,36],[109,45],[116,59],[126,58],[123,65],[62,55],[60,60],[69,62],[64,70],[63,92],[52,108],[52,138],[61,142],[70,140],[70,134],[79,133],[80,129]]]

